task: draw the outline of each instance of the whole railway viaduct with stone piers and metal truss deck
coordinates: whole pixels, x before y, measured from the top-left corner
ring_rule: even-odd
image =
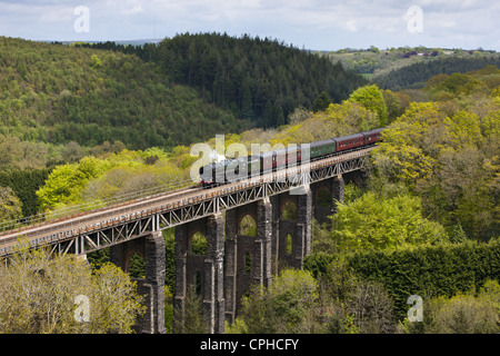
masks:
[[[334,201],[343,200],[346,177],[363,168],[371,149],[322,158],[254,180],[158,194],[9,230],[0,235],[0,256],[12,253],[18,237],[32,248],[49,246],[53,253],[84,256],[110,248],[111,261],[126,271],[130,257],[139,254],[146,261],[146,278],[138,280],[138,289],[146,296],[147,313],[138,330],[161,334],[166,330],[161,231],[174,227],[173,307],[179,320],[193,287],[202,298],[209,332],[223,333],[224,320],[234,320],[241,296],[253,285],[271,284],[283,266],[302,267],[311,253],[312,220],[322,221],[334,212]],[[292,212],[283,215],[283,210]],[[241,228],[243,218],[254,221],[256,231]],[[192,253],[196,234],[207,239],[203,256]],[[173,330],[179,332],[180,326],[173,325]]]

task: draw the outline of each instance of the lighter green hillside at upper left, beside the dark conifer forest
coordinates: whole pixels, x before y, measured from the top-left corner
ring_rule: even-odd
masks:
[[[0,135],[172,148],[248,127],[134,55],[0,38]]]

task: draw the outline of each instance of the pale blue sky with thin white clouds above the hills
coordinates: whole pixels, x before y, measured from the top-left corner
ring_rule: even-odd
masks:
[[[51,41],[226,32],[298,48],[426,46],[500,51],[491,0],[0,0],[0,36]]]

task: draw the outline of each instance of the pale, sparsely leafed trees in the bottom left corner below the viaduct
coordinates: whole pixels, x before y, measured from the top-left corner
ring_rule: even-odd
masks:
[[[92,274],[76,256],[21,250],[0,267],[0,333],[132,333],[136,287],[111,264]]]

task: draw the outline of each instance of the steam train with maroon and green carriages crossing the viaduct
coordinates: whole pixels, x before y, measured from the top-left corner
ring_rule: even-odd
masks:
[[[222,185],[301,165],[302,156],[307,159],[306,149],[309,149],[309,161],[313,161],[321,157],[341,155],[350,150],[373,146],[381,140],[382,130],[383,128],[380,128],[308,145],[289,146],[288,148],[262,152],[258,156],[237,157],[220,162],[212,162],[200,168],[200,185],[203,187],[216,184]]]

